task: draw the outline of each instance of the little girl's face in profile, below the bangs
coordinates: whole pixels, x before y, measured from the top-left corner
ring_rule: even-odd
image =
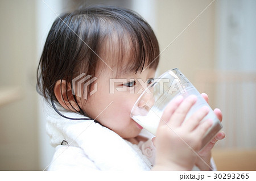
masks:
[[[122,138],[134,138],[142,127],[130,117],[134,103],[147,84],[154,81],[155,70],[147,68],[142,73],[115,77],[114,71],[105,68],[96,73],[97,91],[82,102],[82,108],[92,119],[119,134]]]

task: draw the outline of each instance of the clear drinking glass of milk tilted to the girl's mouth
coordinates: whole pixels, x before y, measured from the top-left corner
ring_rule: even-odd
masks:
[[[201,107],[208,106],[210,108],[210,106],[179,69],[168,70],[159,78],[156,78],[155,82],[142,92],[131,110],[131,118],[155,135],[159,121],[163,121],[161,117],[167,104],[178,95],[187,98],[192,94],[197,96],[197,102],[188,112],[184,121]],[[204,135],[202,148],[222,128],[220,120],[218,120],[212,108],[202,121],[208,119],[213,120],[213,125]]]

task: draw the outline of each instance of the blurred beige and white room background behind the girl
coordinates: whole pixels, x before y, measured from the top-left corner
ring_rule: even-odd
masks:
[[[44,170],[51,162],[36,68],[57,15],[90,4],[139,12],[163,51],[157,74],[179,68],[222,110],[226,138],[213,150],[217,169],[256,170],[254,0],[1,0],[0,170]]]

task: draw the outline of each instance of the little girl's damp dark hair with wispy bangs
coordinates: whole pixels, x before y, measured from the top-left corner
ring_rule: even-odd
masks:
[[[114,43],[107,45],[108,40]],[[121,65],[121,71],[137,73],[148,65],[154,69],[158,66],[158,41],[149,24],[135,12],[91,6],[60,15],[52,24],[40,58],[38,91],[46,100],[57,102],[55,83],[65,80],[72,84],[72,79],[81,73],[95,77],[96,66],[108,56],[108,49],[117,54],[112,63]],[[67,83],[65,87],[68,89]],[[89,94],[92,87],[93,83],[85,94]],[[80,113],[85,115],[81,108]]]

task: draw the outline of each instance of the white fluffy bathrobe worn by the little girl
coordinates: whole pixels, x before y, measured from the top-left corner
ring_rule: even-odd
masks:
[[[84,118],[73,112],[61,113],[67,117]],[[47,117],[46,129],[51,138],[51,145],[57,147],[51,163],[54,166],[49,166],[49,170],[76,170],[71,167],[82,165],[77,170],[84,167],[97,170],[138,171],[150,170],[154,164],[155,148],[150,141],[139,145],[131,144],[110,129],[94,123],[93,120],[69,120],[55,113]],[[144,129],[141,135],[150,140],[153,136]],[[58,146],[63,140],[68,142],[68,149],[67,146]],[[147,146],[150,146],[150,149],[147,149]],[[63,157],[60,156],[61,154]],[[211,166],[213,170],[217,170],[213,159]],[[194,166],[193,170],[199,169]]]

